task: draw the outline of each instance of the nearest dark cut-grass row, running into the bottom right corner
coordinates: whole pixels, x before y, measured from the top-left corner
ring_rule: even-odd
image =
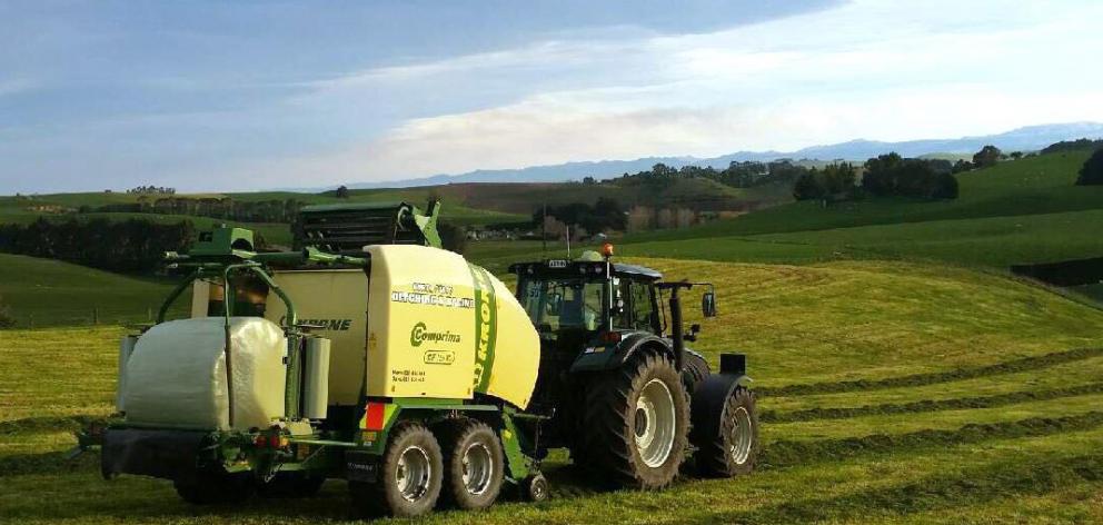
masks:
[[[975,506],[985,502],[1044,496],[1103,482],[1103,455],[1029,457],[991,464],[953,476],[873,488],[831,498],[781,503],[747,512],[703,513],[680,523],[813,523],[891,519],[912,513]],[[886,515],[887,514],[887,515]]]

